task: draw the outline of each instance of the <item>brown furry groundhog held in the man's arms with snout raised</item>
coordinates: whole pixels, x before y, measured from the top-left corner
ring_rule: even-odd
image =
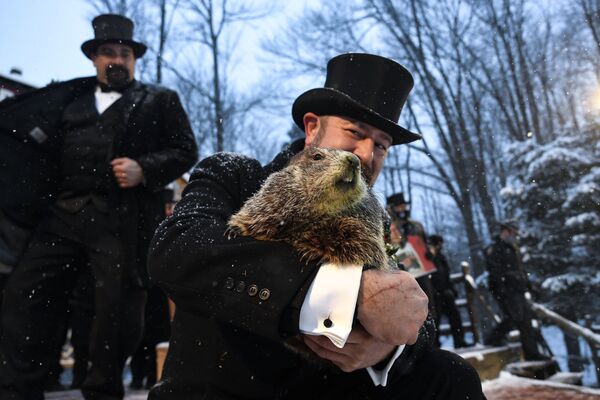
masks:
[[[383,220],[358,157],[309,147],[265,180],[231,217],[228,234],[287,242],[306,262],[390,270]]]

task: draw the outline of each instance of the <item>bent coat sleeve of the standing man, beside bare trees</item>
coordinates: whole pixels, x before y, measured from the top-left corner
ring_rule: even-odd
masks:
[[[198,158],[198,147],[179,96],[172,90],[157,93],[161,118],[161,150],[144,154],[136,161],[144,171],[147,187],[161,188],[188,171]]]

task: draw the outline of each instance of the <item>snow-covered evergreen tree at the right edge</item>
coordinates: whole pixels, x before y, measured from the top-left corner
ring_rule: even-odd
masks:
[[[600,304],[600,127],[515,143],[502,190],[523,228],[521,252],[538,301],[570,318]]]

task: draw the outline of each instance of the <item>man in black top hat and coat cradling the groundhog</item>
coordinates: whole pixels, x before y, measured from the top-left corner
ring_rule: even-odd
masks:
[[[473,368],[431,350],[427,298],[408,273],[325,271],[285,243],[224,234],[229,217],[305,146],[354,153],[373,184],[390,146],[420,138],[397,124],[412,86],[390,59],[334,57],[325,87],[292,107],[304,139],[266,166],[232,154],[196,166],[149,254],[151,279],[177,305],[150,399],[484,398]],[[319,295],[327,301],[314,301]],[[331,364],[284,347],[298,334]]]

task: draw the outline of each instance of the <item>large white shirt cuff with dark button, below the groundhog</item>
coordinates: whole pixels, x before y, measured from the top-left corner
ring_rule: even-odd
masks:
[[[323,264],[300,309],[300,331],[344,347],[354,320],[362,265]]]

